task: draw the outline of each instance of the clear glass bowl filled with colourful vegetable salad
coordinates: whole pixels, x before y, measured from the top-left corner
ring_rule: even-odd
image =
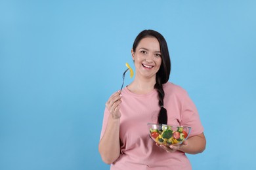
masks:
[[[148,123],[150,138],[165,146],[179,145],[188,139],[191,127]]]

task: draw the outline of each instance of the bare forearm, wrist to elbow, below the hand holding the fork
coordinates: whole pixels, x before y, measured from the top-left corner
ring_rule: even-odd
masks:
[[[119,118],[109,116],[108,125],[98,146],[102,160],[108,164],[117,160],[120,154],[119,124]]]

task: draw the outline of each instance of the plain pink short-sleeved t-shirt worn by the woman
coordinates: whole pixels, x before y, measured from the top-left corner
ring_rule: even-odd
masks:
[[[202,133],[198,111],[188,93],[171,82],[163,84],[163,90],[168,124],[192,127],[190,137]],[[111,169],[192,169],[184,152],[166,152],[150,139],[147,123],[158,122],[158,92],[153,90],[147,94],[135,94],[124,88],[121,93],[121,154],[112,163]],[[106,129],[109,114],[105,109],[100,138]]]

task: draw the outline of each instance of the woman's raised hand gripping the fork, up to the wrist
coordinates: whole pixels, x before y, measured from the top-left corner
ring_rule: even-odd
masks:
[[[121,91],[118,90],[116,93],[110,96],[108,101],[106,102],[106,108],[112,114],[112,118],[117,119],[121,117],[121,113],[119,111],[121,103]]]

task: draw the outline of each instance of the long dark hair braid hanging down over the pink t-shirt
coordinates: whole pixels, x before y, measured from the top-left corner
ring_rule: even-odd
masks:
[[[158,91],[158,98],[161,109],[158,114],[158,124],[167,124],[167,110],[163,107],[163,98],[165,97],[165,92],[163,91],[163,84],[161,84],[161,78],[156,78],[155,88]]]

